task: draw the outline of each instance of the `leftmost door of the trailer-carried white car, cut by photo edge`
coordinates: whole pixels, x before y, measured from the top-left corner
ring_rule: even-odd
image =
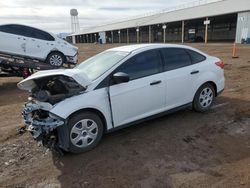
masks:
[[[0,52],[12,55],[26,55],[25,31],[21,25],[0,26]]]

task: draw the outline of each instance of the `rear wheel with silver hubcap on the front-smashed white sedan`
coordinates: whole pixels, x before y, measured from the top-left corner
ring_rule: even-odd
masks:
[[[215,99],[215,89],[213,85],[206,83],[196,92],[193,100],[193,109],[196,112],[206,112],[213,105]]]

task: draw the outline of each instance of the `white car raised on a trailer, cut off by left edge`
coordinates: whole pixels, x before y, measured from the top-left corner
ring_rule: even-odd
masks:
[[[77,63],[77,47],[40,29],[17,24],[1,25],[0,41],[2,54],[41,60],[57,67]]]

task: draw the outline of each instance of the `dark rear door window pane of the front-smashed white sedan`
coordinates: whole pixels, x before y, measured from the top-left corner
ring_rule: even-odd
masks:
[[[163,48],[161,49],[164,58],[164,70],[170,71],[191,65],[191,59],[185,49]]]

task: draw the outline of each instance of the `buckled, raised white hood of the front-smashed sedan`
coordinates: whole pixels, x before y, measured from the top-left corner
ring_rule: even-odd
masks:
[[[22,90],[32,90],[36,87],[34,80],[45,78],[45,77],[53,77],[53,76],[67,76],[73,78],[78,84],[86,88],[91,84],[91,80],[88,79],[86,74],[84,74],[80,69],[57,69],[57,70],[48,70],[48,71],[39,71],[28,78],[22,80],[17,84],[19,89]]]

